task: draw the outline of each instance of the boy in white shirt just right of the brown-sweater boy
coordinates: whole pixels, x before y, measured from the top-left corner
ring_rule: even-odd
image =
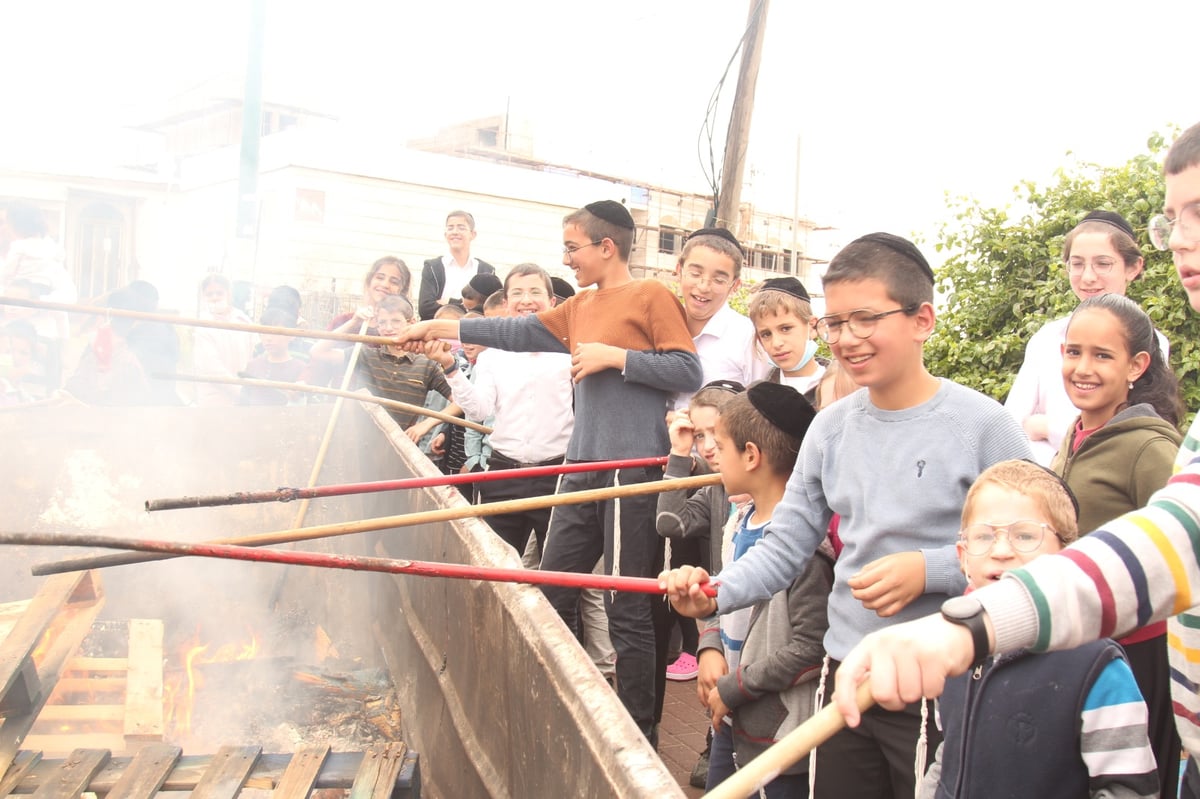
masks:
[[[742,244],[725,228],[703,228],[688,236],[676,276],[688,317],[688,332],[704,371],[704,383],[734,380],[750,385],[767,376],[767,364],[757,356],[754,325],[728,305],[730,294],[742,283]],[[686,392],[674,400],[676,409],[688,407]]]

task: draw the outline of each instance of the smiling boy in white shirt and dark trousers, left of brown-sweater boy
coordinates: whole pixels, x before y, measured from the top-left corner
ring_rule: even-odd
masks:
[[[506,307],[514,317],[532,317],[556,304],[550,276],[536,264],[517,264],[509,270],[504,292]],[[440,342],[430,347],[436,352]],[[467,419],[482,422],[494,416],[488,423],[492,428],[490,471],[563,462],[575,427],[570,355],[485,349],[469,380],[444,356],[442,362],[449,370],[446,380],[454,400]],[[547,475],[481,482],[478,491],[481,501],[494,503],[553,494],[557,483],[556,475]],[[488,516],[485,521],[517,552],[524,551],[533,533],[540,555],[550,527],[550,509]]]

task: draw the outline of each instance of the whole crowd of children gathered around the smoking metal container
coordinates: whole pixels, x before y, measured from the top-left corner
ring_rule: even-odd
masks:
[[[1175,252],[1200,312],[1200,126],[1172,146],[1166,184],[1152,238]],[[44,230],[23,212],[31,241],[5,242],[6,294],[68,294]],[[818,318],[794,277],[754,287],[742,316],[728,299],[745,254],[728,230],[688,238],[674,295],[632,277],[635,229],[610,200],[564,218],[563,265],[590,289],[575,293],[535,264],[498,277],[470,254],[474,217],[454,211],[450,254],[425,262],[418,307],[407,265],[385,257],[360,307],[331,324],[391,343],[198,329],[192,361],[199,374],[276,383],[341,376],[408,403],[392,417],[448,473],[670,453],[665,470],[488,481],[466,491],[476,501],[719,473],[695,493],[664,486],[486,518],[544,569],[659,576],[678,615],[606,591],[590,597],[602,618],[584,621],[578,590],[544,593],[589,650],[611,645],[614,665],[596,663],[652,744],[664,680],[696,679],[713,727],[701,785],[836,703],[850,726],[763,795],[1177,795],[1181,749],[1200,745],[1200,623],[1187,613],[1200,584],[1196,433],[1178,431],[1165,338],[1123,296],[1142,272],[1129,223],[1096,211],[1068,234],[1080,304],[1031,340],[1007,405],[925,368],[934,271],[905,239],[845,246]],[[248,322],[223,277],[206,276],[200,296],[202,318]],[[132,287],[108,301],[149,302]],[[0,330],[5,404],[28,401],[23,371],[64,337],[55,319],[18,317]],[[299,295],[281,290],[260,322],[295,328],[298,317]],[[162,328],[108,319],[66,389],[134,404],[127,395],[152,383],[148,362],[166,371],[172,352],[178,360],[179,340]],[[197,400],[282,405],[302,388],[211,383]],[[878,704],[859,711],[864,679]],[[1187,774],[1182,795],[1200,797],[1194,761]]]

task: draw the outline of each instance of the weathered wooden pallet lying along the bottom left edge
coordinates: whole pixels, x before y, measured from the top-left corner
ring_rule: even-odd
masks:
[[[133,757],[80,749],[64,759],[43,759],[41,752],[25,750],[0,780],[0,798],[77,799],[92,792],[106,799],[151,799],[160,792],[188,791],[192,799],[233,799],[242,789],[258,789],[271,791],[272,799],[295,799],[329,788],[348,791],[349,799],[420,799],[416,752],[403,743],[364,752],[330,752],[326,745],[313,745],[295,755],[223,746],[204,756],[146,744]]]

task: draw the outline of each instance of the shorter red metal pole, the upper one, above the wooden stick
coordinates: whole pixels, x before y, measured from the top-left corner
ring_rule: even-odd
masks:
[[[404,480],[377,480],[374,482],[346,482],[312,488],[276,488],[275,491],[239,491],[232,494],[214,494],[209,497],[178,497],[170,499],[148,499],[148,511],[179,510],[181,507],[212,507],[216,505],[245,505],[250,503],[287,503],[293,499],[319,499],[323,497],[344,497],[347,494],[367,494],[379,491],[403,491],[407,488],[428,488],[432,486],[460,486],[463,483],[488,482],[492,480],[516,480],[518,477],[544,477],[547,475],[574,474],[576,471],[606,471],[608,469],[636,469],[640,467],[665,465],[665,457],[629,458],[625,461],[584,461],[581,463],[563,463],[545,467],[527,467],[523,469],[498,469],[496,471],[474,471],[472,474],[439,474],[434,477],[407,477]]]

